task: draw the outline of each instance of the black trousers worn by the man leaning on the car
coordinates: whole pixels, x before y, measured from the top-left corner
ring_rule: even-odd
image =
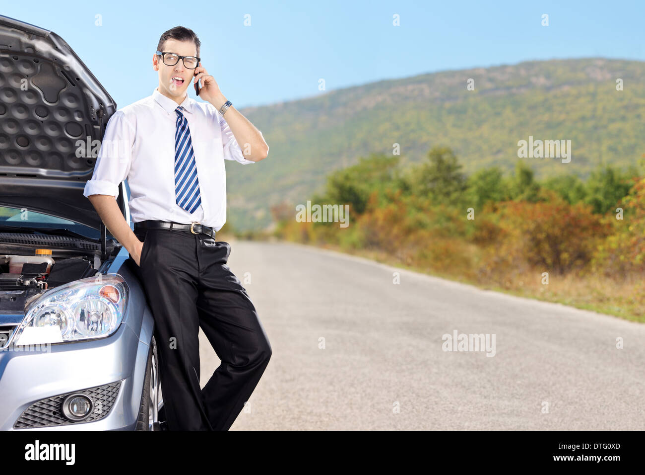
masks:
[[[134,233],[144,243],[138,272],[155,321],[168,430],[228,430],[272,354],[250,297],[226,265],[231,246],[190,231]],[[203,389],[200,327],[221,360]]]

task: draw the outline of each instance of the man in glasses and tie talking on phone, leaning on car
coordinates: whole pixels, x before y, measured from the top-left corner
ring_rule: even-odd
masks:
[[[110,118],[84,189],[139,266],[155,321],[167,430],[228,430],[272,354],[253,303],[226,265],[230,245],[215,241],[226,220],[224,159],[253,164],[269,147],[199,63],[199,47],[183,26],[161,35],[152,58],[159,85]],[[199,79],[206,103],[188,97]],[[126,178],[134,232],[115,200]],[[222,362],[203,390],[200,326]]]

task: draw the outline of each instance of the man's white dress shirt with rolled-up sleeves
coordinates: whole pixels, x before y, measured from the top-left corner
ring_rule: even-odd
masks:
[[[119,196],[130,186],[132,221],[146,219],[184,224],[200,222],[219,231],[226,222],[224,160],[246,160],[226,119],[215,107],[188,97],[181,103],[192,139],[201,204],[188,213],[175,201],[175,127],[177,103],[157,89],[152,96],[118,109],[110,117],[84,196]]]

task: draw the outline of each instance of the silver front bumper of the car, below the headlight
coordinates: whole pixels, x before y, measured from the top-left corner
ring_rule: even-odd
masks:
[[[0,430],[134,430],[149,336],[139,339],[122,322],[103,339],[0,351]],[[97,405],[86,421],[72,422],[58,396],[77,392]]]

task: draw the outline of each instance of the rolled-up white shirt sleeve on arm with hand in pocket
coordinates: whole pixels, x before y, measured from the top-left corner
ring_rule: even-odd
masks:
[[[119,197],[119,185],[130,173],[134,127],[123,111],[116,111],[108,120],[101,149],[94,165],[92,179],[85,184],[83,195]]]

